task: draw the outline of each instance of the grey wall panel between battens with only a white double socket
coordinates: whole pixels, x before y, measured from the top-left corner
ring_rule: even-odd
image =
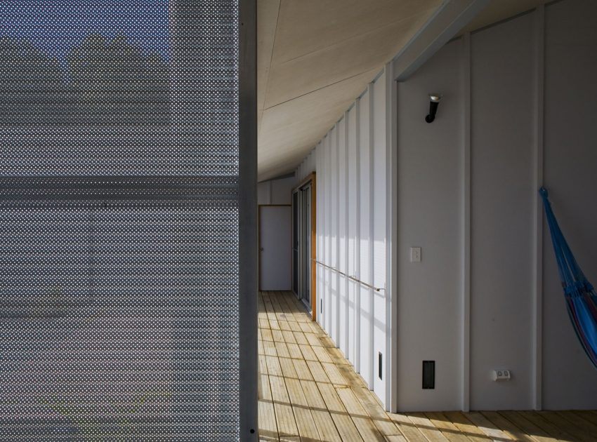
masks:
[[[531,406],[534,22],[471,36],[471,408]],[[512,370],[494,382],[492,370]]]

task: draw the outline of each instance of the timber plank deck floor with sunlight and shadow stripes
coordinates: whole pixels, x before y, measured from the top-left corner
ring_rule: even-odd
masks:
[[[597,412],[386,413],[296,297],[259,294],[261,441],[597,441]]]

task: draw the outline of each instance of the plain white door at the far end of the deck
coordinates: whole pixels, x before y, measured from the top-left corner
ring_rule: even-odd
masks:
[[[291,290],[291,206],[259,206],[259,290]]]

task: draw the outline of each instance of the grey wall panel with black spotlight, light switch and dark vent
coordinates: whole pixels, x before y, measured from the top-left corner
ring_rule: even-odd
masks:
[[[461,407],[463,46],[448,44],[398,84],[399,410]],[[432,124],[430,92],[443,94]],[[421,262],[410,262],[413,246]],[[435,389],[421,389],[424,360],[437,364]]]

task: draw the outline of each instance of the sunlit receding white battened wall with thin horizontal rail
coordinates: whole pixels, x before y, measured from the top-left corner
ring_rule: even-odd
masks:
[[[317,320],[389,408],[386,337],[386,73],[369,85],[298,166],[317,177]],[[379,353],[382,377],[379,378]]]

